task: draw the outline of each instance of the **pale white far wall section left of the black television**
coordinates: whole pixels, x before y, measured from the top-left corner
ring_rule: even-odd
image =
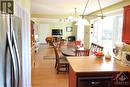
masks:
[[[45,38],[51,36],[51,29],[49,29],[49,24],[39,24],[38,25],[38,40],[40,43],[46,43]]]

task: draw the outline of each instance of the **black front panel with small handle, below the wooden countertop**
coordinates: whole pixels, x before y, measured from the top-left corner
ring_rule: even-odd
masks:
[[[112,87],[112,77],[78,77],[78,87]]]

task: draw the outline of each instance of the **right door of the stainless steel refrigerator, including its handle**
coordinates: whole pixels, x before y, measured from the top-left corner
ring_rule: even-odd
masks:
[[[22,86],[22,36],[21,36],[21,19],[16,16],[11,17],[11,37],[12,37],[12,45],[13,51],[15,54],[15,60],[17,65],[16,70],[16,81],[18,85]]]

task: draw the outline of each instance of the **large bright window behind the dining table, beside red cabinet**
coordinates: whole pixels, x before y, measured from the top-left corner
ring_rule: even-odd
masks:
[[[115,42],[122,37],[122,16],[111,16],[104,19],[95,19],[91,42],[104,47],[104,52],[112,52]]]

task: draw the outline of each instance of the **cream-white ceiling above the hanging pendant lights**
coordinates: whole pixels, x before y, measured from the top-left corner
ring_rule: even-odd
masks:
[[[75,10],[78,15],[83,14],[85,4],[88,0],[32,0],[32,15],[48,15],[49,16],[74,16]],[[101,7],[107,7],[116,4],[122,0],[100,0]],[[99,10],[98,0],[89,0],[85,14]]]

